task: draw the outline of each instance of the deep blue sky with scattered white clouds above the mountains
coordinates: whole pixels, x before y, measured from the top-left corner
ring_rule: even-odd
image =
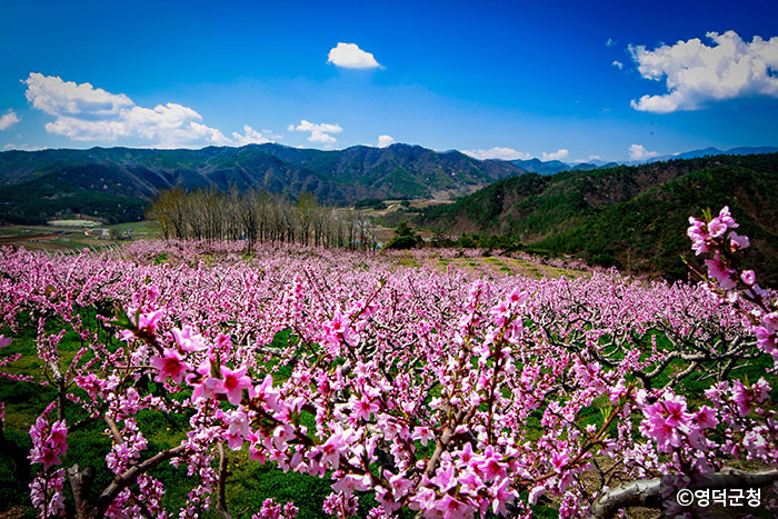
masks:
[[[778,4],[681,3],[2,2],[0,150],[778,146]]]

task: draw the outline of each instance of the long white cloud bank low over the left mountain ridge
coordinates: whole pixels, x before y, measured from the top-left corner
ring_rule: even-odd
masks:
[[[46,131],[72,140],[140,139],[159,148],[230,146],[238,140],[203,124],[197,111],[174,102],[139,107],[123,93],[34,72],[22,82],[32,107],[54,117]]]

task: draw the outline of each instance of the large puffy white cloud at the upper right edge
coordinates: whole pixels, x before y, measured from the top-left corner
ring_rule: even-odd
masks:
[[[655,50],[629,47],[638,71],[646,79],[665,78],[667,93],[632,100],[636,110],[669,113],[696,110],[710,101],[747,96],[778,97],[778,37],[754,37],[745,42],[735,31],[706,34],[715,44],[699,39],[662,44]]]

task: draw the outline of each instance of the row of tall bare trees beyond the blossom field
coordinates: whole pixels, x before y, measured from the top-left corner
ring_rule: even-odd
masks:
[[[292,201],[267,191],[172,188],[160,192],[149,217],[166,239],[247,240],[249,251],[257,242],[365,250],[377,246],[361,212],[321,206],[307,192]]]

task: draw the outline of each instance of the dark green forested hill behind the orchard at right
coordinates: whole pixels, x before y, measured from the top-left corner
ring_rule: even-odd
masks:
[[[523,174],[495,182],[420,223],[455,232],[515,236],[552,254],[685,277],[688,217],[728,204],[752,238],[752,265],[778,283],[778,153]]]

